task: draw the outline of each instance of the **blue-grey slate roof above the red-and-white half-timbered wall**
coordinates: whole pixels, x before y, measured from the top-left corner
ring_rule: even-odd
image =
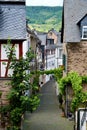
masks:
[[[0,3],[0,40],[8,38],[26,39],[25,5]]]

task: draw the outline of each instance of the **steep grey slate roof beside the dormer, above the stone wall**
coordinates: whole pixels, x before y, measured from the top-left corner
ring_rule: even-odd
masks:
[[[63,42],[80,42],[77,23],[87,14],[87,0],[64,0],[63,13]]]

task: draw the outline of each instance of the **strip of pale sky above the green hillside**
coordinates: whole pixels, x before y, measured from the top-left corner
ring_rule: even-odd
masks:
[[[62,6],[63,0],[26,0],[28,6]]]

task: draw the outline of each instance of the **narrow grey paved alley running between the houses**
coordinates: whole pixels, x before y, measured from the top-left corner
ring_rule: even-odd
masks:
[[[31,113],[26,112],[23,130],[73,130],[73,121],[61,117],[55,94],[54,81],[47,82],[41,89],[39,108]]]

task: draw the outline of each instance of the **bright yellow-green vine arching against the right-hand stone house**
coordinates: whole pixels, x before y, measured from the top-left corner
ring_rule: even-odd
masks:
[[[60,79],[59,86],[62,94],[65,94],[65,88],[68,85],[73,88],[74,97],[71,103],[73,112],[87,101],[87,92],[82,91],[82,83],[85,81],[87,82],[87,77],[79,76],[76,72],[70,72],[66,77]]]

